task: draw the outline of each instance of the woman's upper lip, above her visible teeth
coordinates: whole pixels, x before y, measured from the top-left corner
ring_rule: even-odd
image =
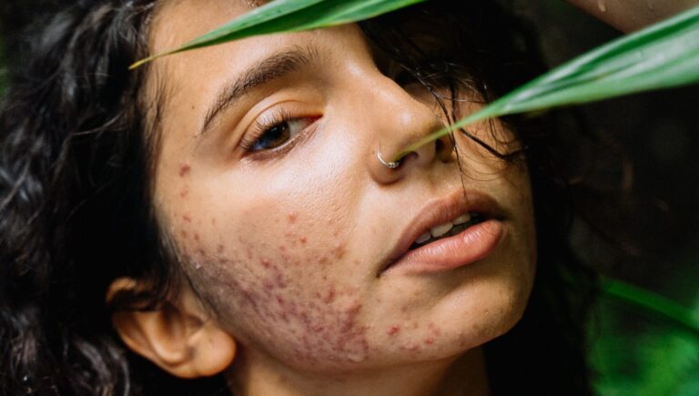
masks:
[[[420,238],[420,235],[429,232],[430,228],[473,212],[480,213],[484,218],[502,219],[501,208],[495,199],[479,191],[460,189],[446,197],[431,199],[400,234],[400,239],[390,250],[380,273],[404,256],[413,242]]]

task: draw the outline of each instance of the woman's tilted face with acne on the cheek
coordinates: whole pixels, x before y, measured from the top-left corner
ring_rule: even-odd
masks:
[[[164,5],[152,50],[239,3]],[[379,150],[445,120],[426,90],[380,71],[357,26],[169,56],[151,86],[164,97],[159,222],[246,359],[322,372],[445,360],[520,319],[535,261],[526,170],[458,134],[460,159],[442,140],[381,165]],[[486,126],[471,132],[503,148],[509,132]],[[469,212],[487,221],[406,252]]]

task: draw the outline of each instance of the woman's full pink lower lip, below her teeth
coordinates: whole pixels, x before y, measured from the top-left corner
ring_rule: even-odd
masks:
[[[490,256],[503,234],[502,223],[488,219],[452,237],[410,250],[385,273],[431,273],[464,267]]]

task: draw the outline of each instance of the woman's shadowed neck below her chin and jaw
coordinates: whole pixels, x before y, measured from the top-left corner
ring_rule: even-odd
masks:
[[[249,353],[241,353],[228,374],[231,390],[236,396],[490,394],[481,348],[469,350],[458,359],[421,361],[349,374],[299,372],[250,356]]]

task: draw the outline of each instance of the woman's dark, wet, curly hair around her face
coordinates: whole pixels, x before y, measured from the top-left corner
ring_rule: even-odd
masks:
[[[161,100],[144,93],[147,66],[127,70],[147,55],[156,6],[78,1],[26,40],[13,69],[0,108],[0,394],[228,392],[222,378],[159,371],[110,322],[115,310],[157,307],[182,277],[152,206]],[[464,86],[490,100],[544,70],[531,30],[493,2],[434,1],[360,26],[407,78],[449,86],[445,111]],[[491,389],[591,394],[584,325],[594,275],[568,240],[570,145],[555,116],[505,122],[526,152],[488,148],[530,169],[539,256],[522,320],[486,344]],[[153,288],[107,306],[119,277]]]

